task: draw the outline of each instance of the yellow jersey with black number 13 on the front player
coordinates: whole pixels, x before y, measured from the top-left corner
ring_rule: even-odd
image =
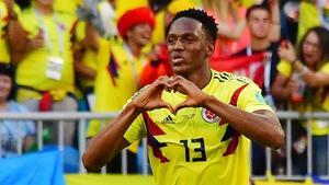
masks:
[[[212,71],[202,91],[246,112],[271,111],[257,84],[231,73]],[[172,106],[186,99],[167,91],[161,97]],[[124,135],[131,143],[144,137],[157,185],[249,185],[250,140],[206,108],[145,112]]]

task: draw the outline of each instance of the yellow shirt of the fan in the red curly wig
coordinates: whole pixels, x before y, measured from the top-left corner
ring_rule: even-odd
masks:
[[[98,74],[94,83],[95,112],[118,112],[126,101],[138,91],[140,77],[147,58],[132,57],[122,41],[100,38]],[[101,125],[92,122],[88,136],[99,132]]]

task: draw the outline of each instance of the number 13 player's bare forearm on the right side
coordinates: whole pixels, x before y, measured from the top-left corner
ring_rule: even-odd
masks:
[[[211,109],[226,120],[241,135],[271,148],[283,143],[284,135],[277,118],[265,111],[263,114],[248,113],[235,106],[227,105],[214,96],[205,100],[204,107]]]

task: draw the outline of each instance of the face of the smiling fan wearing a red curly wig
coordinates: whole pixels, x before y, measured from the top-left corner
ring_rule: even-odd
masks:
[[[149,24],[137,24],[127,32],[127,37],[144,47],[150,42],[151,34],[152,28]]]

